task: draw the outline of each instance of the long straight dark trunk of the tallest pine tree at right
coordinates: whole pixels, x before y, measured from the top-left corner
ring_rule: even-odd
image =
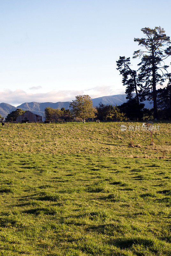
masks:
[[[154,52],[152,51],[152,97],[153,97],[153,108],[154,108],[154,119],[158,118],[157,115],[157,95],[156,95],[156,79],[155,79],[155,64],[154,64]]]

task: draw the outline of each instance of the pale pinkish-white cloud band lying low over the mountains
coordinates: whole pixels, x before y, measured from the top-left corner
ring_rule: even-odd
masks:
[[[75,99],[76,95],[88,94],[92,98],[109,96],[114,94],[124,93],[123,91],[113,90],[111,86],[96,86],[92,89],[86,90],[60,90],[50,92],[30,93],[23,90],[4,90],[0,92],[0,102],[9,103],[15,106],[24,102],[58,102],[71,101]]]

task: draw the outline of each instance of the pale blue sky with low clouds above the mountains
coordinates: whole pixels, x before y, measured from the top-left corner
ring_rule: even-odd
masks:
[[[170,0],[0,0],[0,102],[124,93],[116,60],[141,28],[171,36],[170,13]]]

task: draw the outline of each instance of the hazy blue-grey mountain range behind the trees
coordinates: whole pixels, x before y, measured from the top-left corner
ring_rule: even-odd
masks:
[[[103,96],[99,98],[92,99],[93,106],[96,107],[101,102],[104,105],[114,105],[119,106],[122,103],[126,102],[126,94],[117,94],[117,95],[111,95],[111,96]],[[149,102],[146,100],[145,102],[145,108],[152,108],[152,106],[149,104]],[[0,103],[0,115],[4,116],[4,118],[11,113],[11,111],[16,110],[17,108],[21,108],[22,110],[30,110],[34,114],[43,116],[44,115],[44,109],[46,107],[50,108],[65,108],[68,109],[70,105],[70,101],[65,102],[25,102],[21,105],[14,107],[8,103]]]

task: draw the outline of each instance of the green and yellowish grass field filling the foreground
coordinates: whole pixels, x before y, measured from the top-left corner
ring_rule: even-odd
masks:
[[[121,124],[0,127],[0,256],[171,255],[171,124]]]

